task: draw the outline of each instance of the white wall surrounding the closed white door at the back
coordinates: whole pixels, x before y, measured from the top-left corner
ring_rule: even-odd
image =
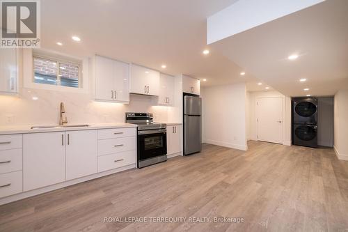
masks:
[[[283,99],[283,144],[290,146],[291,142],[291,99],[278,91],[256,91],[249,92],[248,106],[250,112],[249,137],[250,140],[258,140],[258,122],[256,115],[256,100],[258,98],[274,98],[280,97]]]

